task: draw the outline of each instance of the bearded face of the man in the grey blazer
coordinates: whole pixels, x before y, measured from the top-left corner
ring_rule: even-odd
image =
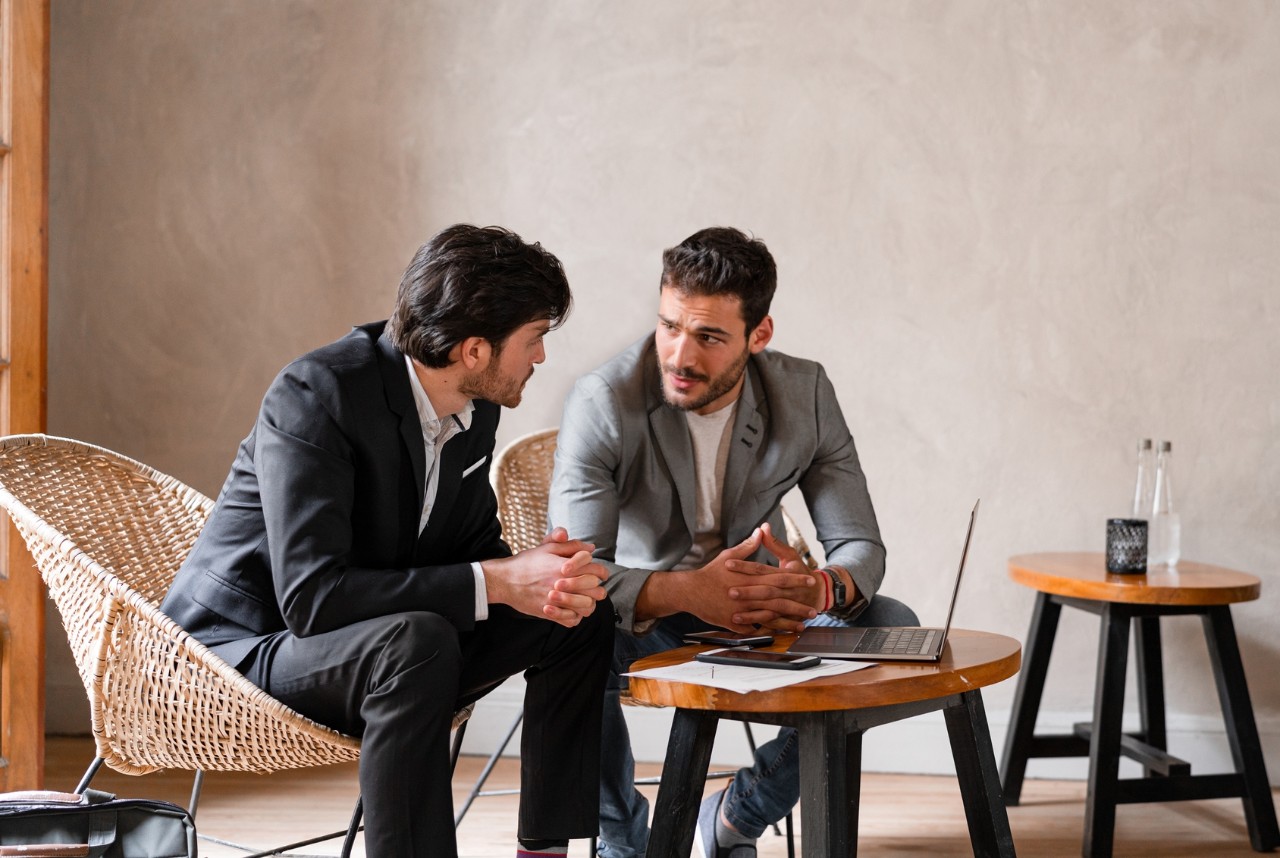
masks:
[[[663,287],[654,342],[667,405],[698,414],[723,409],[742,389],[746,359],[763,350],[772,334],[768,316],[748,334],[737,297],[684,295]]]

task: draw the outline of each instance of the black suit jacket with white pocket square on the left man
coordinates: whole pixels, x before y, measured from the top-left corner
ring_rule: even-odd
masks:
[[[425,453],[403,355],[384,323],[285,366],[161,608],[230,665],[265,635],[402,611],[475,624],[471,561],[511,553],[489,485],[499,407],[443,448],[419,538]]]

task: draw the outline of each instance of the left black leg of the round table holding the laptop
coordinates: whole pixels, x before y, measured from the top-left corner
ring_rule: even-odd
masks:
[[[676,709],[662,766],[662,786],[649,835],[650,855],[687,855],[694,848],[698,807],[707,785],[707,768],[716,741],[714,712]]]

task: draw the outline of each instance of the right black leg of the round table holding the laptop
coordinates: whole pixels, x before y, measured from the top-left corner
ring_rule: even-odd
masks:
[[[1014,858],[1014,835],[1009,830],[1009,813],[1000,791],[996,752],[991,747],[982,693],[963,693],[959,703],[948,706],[943,715],[974,858]]]

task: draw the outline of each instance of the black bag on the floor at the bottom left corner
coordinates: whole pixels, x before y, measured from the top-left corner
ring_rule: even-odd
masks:
[[[196,858],[196,825],[177,804],[99,790],[0,793],[0,855]]]

